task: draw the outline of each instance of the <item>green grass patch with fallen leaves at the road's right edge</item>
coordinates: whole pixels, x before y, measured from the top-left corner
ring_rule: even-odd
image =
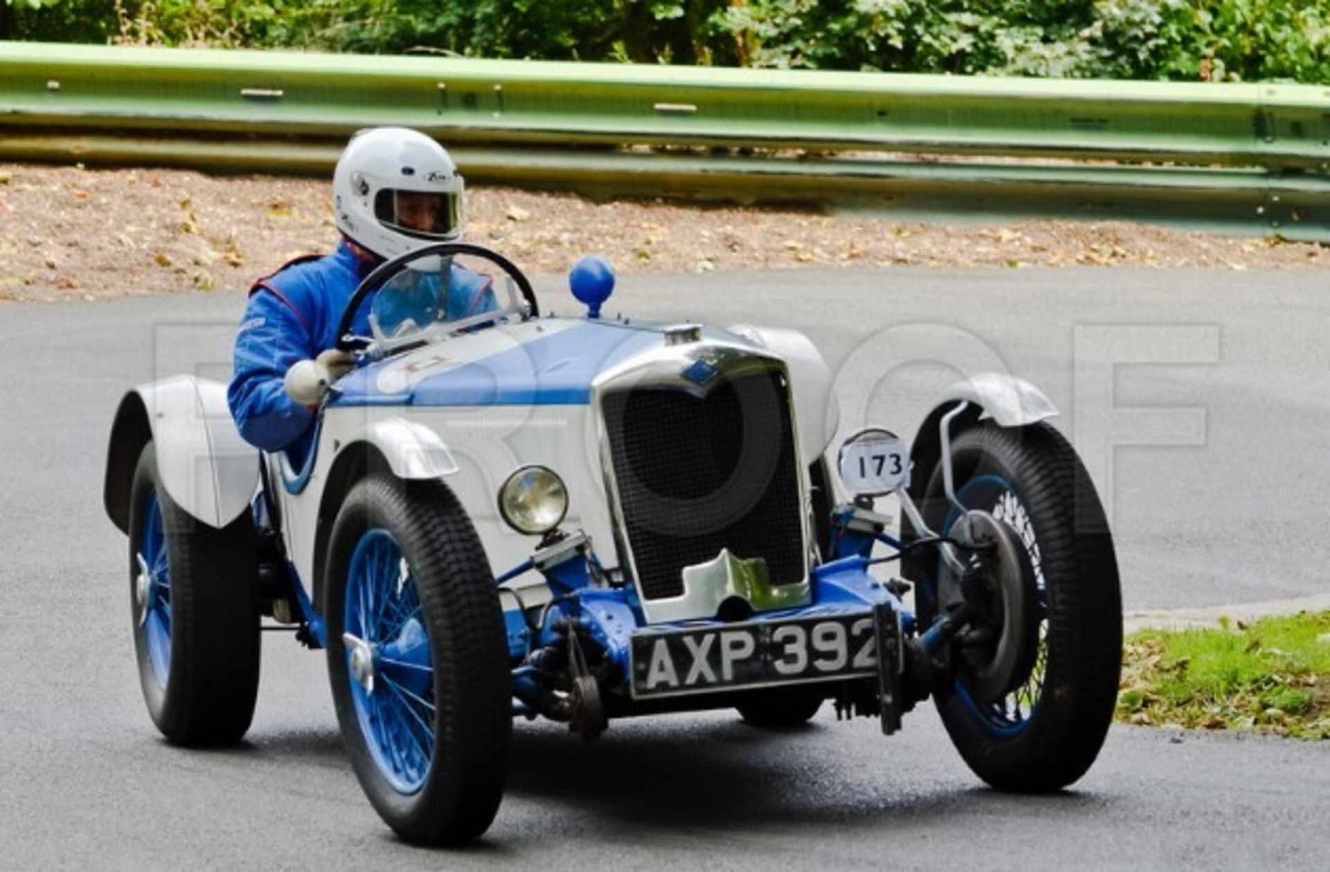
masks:
[[[1330,739],[1330,611],[1127,638],[1117,719]]]

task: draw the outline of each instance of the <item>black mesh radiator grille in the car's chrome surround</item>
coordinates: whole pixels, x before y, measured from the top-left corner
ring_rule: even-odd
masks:
[[[624,534],[648,600],[684,593],[685,566],[722,548],[762,557],[771,582],[805,578],[786,378],[762,371],[705,397],[669,387],[602,401]]]

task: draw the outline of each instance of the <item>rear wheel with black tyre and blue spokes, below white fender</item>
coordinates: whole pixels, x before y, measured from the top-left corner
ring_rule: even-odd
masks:
[[[144,447],[129,514],[129,598],[148,714],[174,744],[239,742],[258,695],[254,522],[225,529],[172,501]]]

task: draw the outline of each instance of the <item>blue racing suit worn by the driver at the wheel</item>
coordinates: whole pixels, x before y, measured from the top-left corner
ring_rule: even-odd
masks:
[[[321,258],[293,261],[250,288],[249,304],[235,335],[234,374],[226,392],[241,436],[257,448],[286,451],[303,465],[313,439],[314,412],[286,395],[286,371],[336,344],[336,328],[359,283],[378,263],[358,258],[343,241]],[[438,276],[431,276],[438,288]],[[487,275],[456,265],[436,316],[455,320],[497,308]],[[435,298],[440,296],[435,290]],[[375,294],[362,302],[351,332],[370,335]],[[418,323],[419,323],[418,318]]]

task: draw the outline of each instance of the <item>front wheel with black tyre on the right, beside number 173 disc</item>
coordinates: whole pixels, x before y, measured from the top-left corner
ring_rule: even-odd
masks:
[[[991,512],[1024,545],[1020,572],[1033,574],[1039,614],[1013,690],[982,698],[983,651],[954,649],[956,681],[938,707],[979,778],[999,790],[1055,791],[1095,762],[1117,698],[1123,605],[1108,522],[1076,452],[1047,424],[978,424],[952,441],[952,459],[959,501]],[[943,494],[940,464],[919,472],[924,520],[947,532],[960,513]],[[935,580],[946,572],[939,561],[911,561],[922,626],[936,613]]]

